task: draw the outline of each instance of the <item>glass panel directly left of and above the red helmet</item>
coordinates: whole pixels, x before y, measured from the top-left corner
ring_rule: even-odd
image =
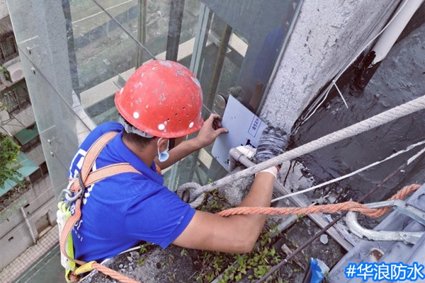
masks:
[[[69,3],[75,52],[75,64],[72,65],[78,74],[79,89],[76,92],[82,107],[96,125],[116,120],[118,112],[113,103],[115,93],[135,71],[138,59],[142,62],[152,59],[130,35],[145,41],[147,47],[154,47],[154,55],[166,49],[166,16],[169,15],[169,9],[153,1],[149,1],[146,6],[139,6],[139,2],[98,1],[107,13],[94,1],[74,0]],[[142,12],[140,9],[144,8],[149,13],[147,37],[142,40],[138,31],[138,16]],[[154,36],[162,32],[161,28],[165,30],[164,35]]]

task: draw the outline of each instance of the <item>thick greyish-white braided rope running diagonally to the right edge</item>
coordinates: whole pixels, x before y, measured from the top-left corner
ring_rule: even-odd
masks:
[[[385,125],[388,122],[392,122],[401,117],[407,116],[423,109],[425,109],[425,96],[416,98],[412,101],[382,112],[354,125],[346,127],[344,129],[340,129],[339,131],[327,134],[326,136],[316,139],[314,141],[310,141],[309,143],[303,144],[302,146],[299,146],[296,149],[286,151],[285,153],[280,154],[280,156],[271,158],[268,161],[264,161],[262,163],[257,164],[256,166],[246,168],[244,171],[239,171],[238,173],[227,175],[225,178],[216,180],[215,182],[212,182],[203,187],[199,187],[198,189],[193,191],[193,194],[191,194],[191,202],[195,200],[199,195],[202,195],[204,192],[210,192],[211,190],[214,190],[217,187],[222,187],[223,185],[232,183],[234,182],[234,180],[249,177],[250,175],[254,175],[259,171],[263,171],[264,169],[270,168],[271,166],[276,166],[285,161],[293,160],[304,154],[310,154],[310,152],[316,151],[317,149],[322,149],[324,146],[328,146],[329,144],[334,144],[337,141],[341,141],[348,137],[354,137],[356,136],[356,134],[361,134],[363,132],[368,131],[369,129]]]

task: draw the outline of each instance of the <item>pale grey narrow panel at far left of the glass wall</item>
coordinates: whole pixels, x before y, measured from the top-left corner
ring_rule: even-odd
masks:
[[[23,0],[11,1],[8,8],[47,167],[58,195],[68,183],[69,161],[78,148],[79,136],[89,132],[87,121],[75,111],[64,9],[58,1]]]

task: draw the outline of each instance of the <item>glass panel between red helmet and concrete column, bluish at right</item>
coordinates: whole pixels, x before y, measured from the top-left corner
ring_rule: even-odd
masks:
[[[239,7],[230,1],[203,1],[192,54],[183,56],[186,49],[179,46],[179,57],[184,58],[179,62],[191,67],[203,88],[205,119],[210,112],[224,113],[230,93],[256,111],[296,7],[296,2],[245,2]],[[211,149],[207,146],[166,171],[166,185],[176,190],[186,182],[205,185],[226,175]]]

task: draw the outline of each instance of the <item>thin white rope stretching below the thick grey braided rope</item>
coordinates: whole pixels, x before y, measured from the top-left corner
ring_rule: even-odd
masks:
[[[305,189],[305,190],[300,190],[299,192],[293,192],[293,193],[291,193],[291,194],[289,194],[289,195],[283,195],[282,197],[276,197],[276,199],[271,200],[271,202],[277,202],[278,200],[283,200],[283,199],[285,199],[285,198],[287,198],[287,197],[293,197],[294,195],[304,194],[305,192],[310,192],[310,191],[312,191],[312,190],[316,190],[316,189],[318,189],[319,187],[324,187],[325,185],[329,185],[329,184],[331,184],[331,183],[336,183],[336,182],[338,182],[338,181],[340,181],[340,180],[344,180],[344,179],[346,179],[346,178],[348,178],[348,177],[351,177],[352,175],[356,175],[356,174],[361,173],[361,172],[363,172],[363,171],[365,171],[365,170],[368,170],[369,168],[372,168],[373,166],[377,166],[378,164],[380,164],[380,163],[382,163],[382,162],[385,162],[385,161],[388,161],[388,160],[390,160],[390,159],[392,159],[392,158],[395,158],[396,156],[399,156],[400,154],[404,154],[405,152],[407,152],[407,151],[410,151],[410,150],[414,149],[416,146],[421,146],[422,144],[425,144],[425,141],[419,141],[419,142],[418,142],[418,143],[416,143],[416,144],[412,144],[411,146],[407,147],[407,149],[404,149],[404,150],[402,150],[402,151],[398,151],[397,153],[392,154],[391,156],[388,156],[387,158],[385,158],[385,159],[383,159],[383,160],[381,160],[381,161],[377,161],[377,162],[375,162],[375,163],[371,163],[371,164],[369,164],[368,166],[365,166],[365,167],[363,167],[363,168],[360,168],[360,169],[358,169],[358,170],[356,170],[356,171],[354,171],[354,172],[348,173],[348,174],[346,174],[346,175],[344,175],[344,176],[341,176],[341,177],[335,178],[335,179],[333,179],[333,180],[329,180],[329,181],[327,181],[327,182],[325,182],[325,183],[322,183],[322,184],[319,184],[319,185],[315,185],[314,187],[310,187],[310,188]],[[409,163],[412,163],[412,161],[414,161],[414,159],[416,159],[418,156],[420,156],[420,155],[421,155],[421,154],[423,154],[424,152],[425,152],[425,149],[422,149],[421,151],[419,151],[419,153],[418,153],[418,154],[416,154],[416,155],[412,156],[412,158],[410,158],[410,159],[409,159],[409,161],[407,161],[407,164],[409,165]]]

